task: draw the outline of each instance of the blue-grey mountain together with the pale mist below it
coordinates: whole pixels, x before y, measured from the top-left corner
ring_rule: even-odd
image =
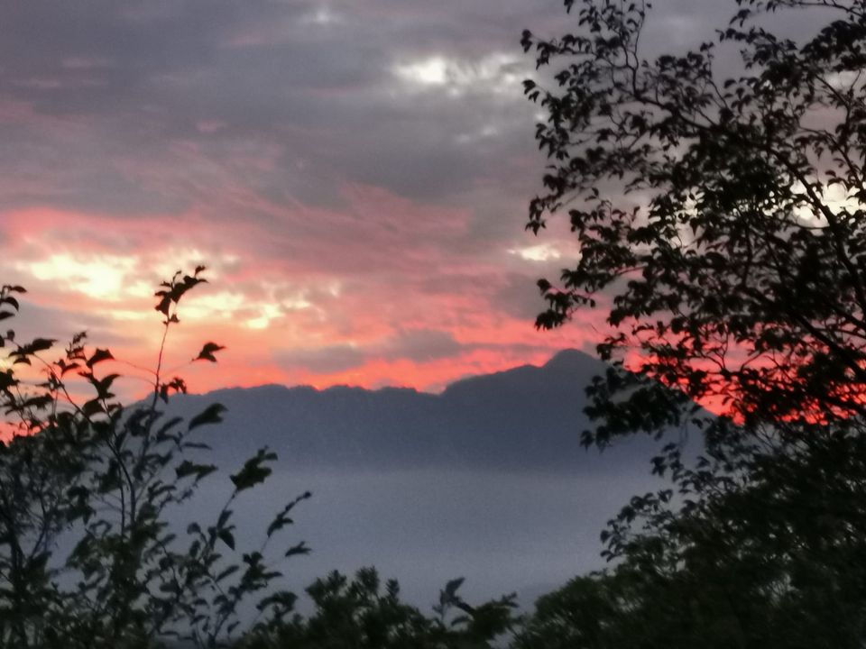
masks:
[[[428,608],[445,580],[469,599],[517,590],[529,605],[574,574],[603,567],[598,533],[637,493],[659,489],[644,436],[600,453],[580,445],[584,388],[605,365],[582,352],[458,380],[441,394],[407,388],[233,388],[172,398],[194,416],[214,402],[225,423],[202,428],[206,462],[226,472],[261,446],[279,454],[262,489],[238,501],[238,540],[256,538],[285,499],[314,552],[291,562],[296,588],[333,568],[375,565]],[[178,530],[217,516],[225,492],[202,489]]]

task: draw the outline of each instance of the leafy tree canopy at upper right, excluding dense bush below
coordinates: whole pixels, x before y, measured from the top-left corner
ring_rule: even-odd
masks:
[[[603,357],[636,349],[632,369],[677,388],[599,383],[594,440],[656,431],[688,400],[750,425],[866,414],[866,2],[739,0],[716,41],[652,60],[649,5],[566,5],[579,32],[522,41],[552,73],[525,82],[550,161],[528,227],[567,211],[581,251],[539,282],[538,324],[609,306]],[[823,26],[793,41],[768,14]]]

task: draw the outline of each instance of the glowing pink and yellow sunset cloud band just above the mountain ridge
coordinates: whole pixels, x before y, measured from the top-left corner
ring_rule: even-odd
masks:
[[[189,156],[197,160],[195,147]],[[267,167],[260,162],[258,172]],[[461,251],[466,208],[359,184],[340,190],[340,207],[280,205],[226,169],[214,173],[226,182],[210,194],[203,185],[179,214],[6,211],[0,266],[31,288],[34,304],[65,314],[59,324],[89,323],[94,343],[106,336],[115,356],[148,367],[160,331],[152,287],[176,268],[208,264],[212,282],[181,308],[167,354],[198,392],[269,382],[438,390],[598,338],[589,320],[541,334],[531,319],[498,308],[494,297],[516,262],[507,251],[483,259]],[[526,263],[528,277],[534,268]],[[226,345],[220,363],[190,366],[208,340]],[[309,362],[310,351],[340,349],[354,352]],[[144,378],[128,389],[146,391]]]

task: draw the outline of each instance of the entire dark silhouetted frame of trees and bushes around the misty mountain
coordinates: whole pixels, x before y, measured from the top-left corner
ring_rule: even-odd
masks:
[[[222,407],[166,415],[186,386],[163,376],[162,351],[150,398],[124,406],[120,377],[103,370],[111,352],[84,334],[50,361],[56,341],[8,331],[0,646],[863,645],[866,2],[740,0],[716,41],[654,60],[640,48],[644,3],[565,5],[579,32],[523,37],[553,72],[550,88],[525,84],[548,115],[537,137],[550,159],[529,227],[567,208],[581,249],[557,286],[539,281],[538,324],[609,306],[599,352],[612,365],[587,390],[597,425],[585,443],[664,438],[652,467],[670,482],[603,531],[611,567],[522,618],[513,596],[468,604],[462,580],[428,615],[373,569],[333,572],[309,586],[301,616],[280,570],[308,548],[282,535],[309,493],[254,546],[240,547],[233,523],[273,452],[239,463],[215,520],[179,531],[170,511],[217,480],[200,434]],[[804,41],[761,26],[806,8],[825,26]],[[742,72],[718,73],[720,47],[742,52]],[[202,270],[157,292],[161,350]],[[0,319],[23,292],[0,288]],[[221,349],[206,343],[195,361]],[[668,442],[686,428],[696,457]]]

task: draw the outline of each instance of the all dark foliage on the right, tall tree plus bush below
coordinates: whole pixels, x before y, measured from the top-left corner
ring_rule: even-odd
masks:
[[[716,41],[653,60],[649,5],[565,4],[577,33],[523,37],[556,67],[525,82],[550,160],[528,227],[567,210],[580,245],[537,324],[607,309],[585,443],[691,423],[705,447],[661,450],[671,489],[610,522],[614,567],[541,599],[515,644],[860,647],[866,3],[739,0]],[[799,42],[761,26],[806,11]]]

